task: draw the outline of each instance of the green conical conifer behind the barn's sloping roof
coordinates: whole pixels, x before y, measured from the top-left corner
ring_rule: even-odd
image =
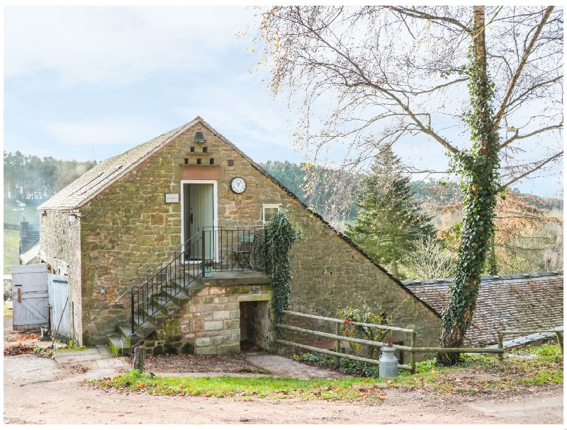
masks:
[[[374,157],[371,174],[361,182],[359,215],[347,227],[347,236],[398,277],[398,263],[412,251],[415,241],[432,237],[432,217],[415,200],[410,179],[391,148]]]

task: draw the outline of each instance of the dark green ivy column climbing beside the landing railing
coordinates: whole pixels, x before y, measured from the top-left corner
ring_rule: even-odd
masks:
[[[272,305],[276,323],[281,322],[281,311],[287,310],[291,291],[291,245],[301,239],[301,230],[289,219],[288,211],[279,210],[266,225],[266,271],[271,275]]]

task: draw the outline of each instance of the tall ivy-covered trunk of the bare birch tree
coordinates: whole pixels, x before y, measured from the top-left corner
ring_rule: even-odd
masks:
[[[494,235],[494,210],[500,191],[500,137],[494,120],[493,83],[486,71],[484,28],[484,9],[475,6],[471,66],[466,70],[471,95],[471,110],[466,114],[466,121],[473,144],[468,152],[454,155],[455,166],[463,176],[463,227],[459,261],[449,288],[449,306],[443,313],[442,345],[457,348],[464,345],[476,307],[481,273]],[[459,353],[439,353],[438,358],[444,364],[454,365],[459,362]]]

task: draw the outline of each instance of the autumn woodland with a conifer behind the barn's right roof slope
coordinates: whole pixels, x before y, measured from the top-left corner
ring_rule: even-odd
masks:
[[[410,182],[391,151],[384,151],[366,175],[303,163],[261,165],[394,276],[452,277],[464,201],[458,183]],[[517,189],[497,200],[496,231],[483,272],[562,268],[563,200]]]

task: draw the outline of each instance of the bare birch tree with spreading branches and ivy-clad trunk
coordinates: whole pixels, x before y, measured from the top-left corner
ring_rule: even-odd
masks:
[[[313,159],[339,147],[352,169],[417,135],[449,154],[465,201],[441,343],[462,346],[498,194],[563,156],[563,9],[278,6],[259,31],[274,95],[303,99]]]

